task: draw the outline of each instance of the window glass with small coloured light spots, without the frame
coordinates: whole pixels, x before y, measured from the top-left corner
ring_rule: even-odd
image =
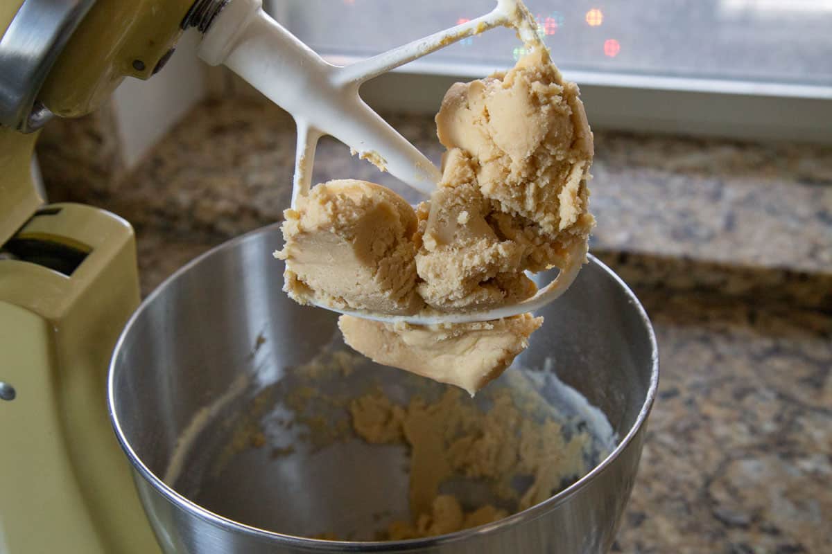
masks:
[[[369,56],[488,12],[491,0],[280,0],[277,16],[322,55]],[[830,0],[528,0],[566,71],[832,86]],[[508,66],[520,45],[488,32],[438,51]]]

